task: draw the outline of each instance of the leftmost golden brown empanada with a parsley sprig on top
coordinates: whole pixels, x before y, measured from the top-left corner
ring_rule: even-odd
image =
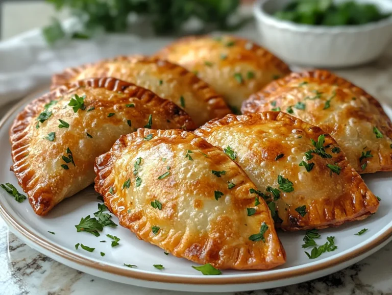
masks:
[[[38,215],[94,180],[95,157],[137,128],[194,128],[174,103],[113,78],[68,84],[31,102],[10,130],[19,185]]]

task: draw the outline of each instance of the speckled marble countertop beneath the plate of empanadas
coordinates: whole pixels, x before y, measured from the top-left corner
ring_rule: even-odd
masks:
[[[380,101],[392,102],[392,46],[377,61],[355,68],[335,70]],[[10,107],[0,109],[0,117]],[[227,295],[286,294],[392,294],[392,243],[340,272],[287,287]],[[183,294],[111,282],[69,268],[28,247],[13,235],[0,217],[0,295],[79,295],[79,294]],[[188,293],[206,294],[206,293]],[[212,294],[212,293],[210,293]]]

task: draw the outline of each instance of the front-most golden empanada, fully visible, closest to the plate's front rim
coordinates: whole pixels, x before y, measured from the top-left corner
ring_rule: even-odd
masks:
[[[95,190],[139,239],[217,268],[285,262],[256,186],[219,147],[181,130],[139,129],[95,161]],[[249,216],[249,210],[252,215]]]

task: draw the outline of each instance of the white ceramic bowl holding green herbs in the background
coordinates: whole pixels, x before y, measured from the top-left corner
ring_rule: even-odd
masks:
[[[344,67],[379,57],[392,39],[392,16],[360,26],[310,26],[280,20],[272,14],[290,0],[259,0],[254,5],[261,43],[289,64]],[[392,12],[392,0],[357,0]]]

